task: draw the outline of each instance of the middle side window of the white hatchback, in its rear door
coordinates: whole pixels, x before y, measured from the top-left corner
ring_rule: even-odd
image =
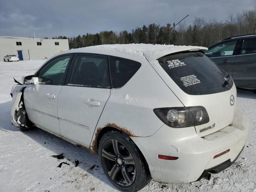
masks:
[[[110,88],[107,58],[78,55],[69,85]]]

